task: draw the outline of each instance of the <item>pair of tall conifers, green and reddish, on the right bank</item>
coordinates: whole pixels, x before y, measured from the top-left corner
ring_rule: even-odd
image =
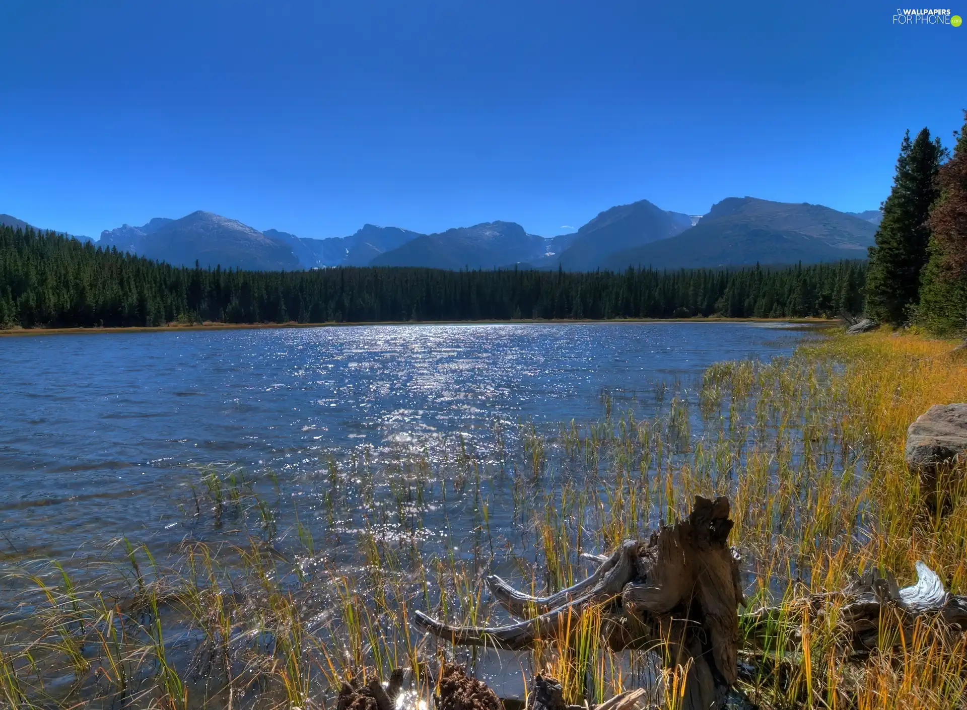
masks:
[[[871,318],[942,336],[967,328],[967,123],[947,158],[929,130],[904,135],[866,284]]]

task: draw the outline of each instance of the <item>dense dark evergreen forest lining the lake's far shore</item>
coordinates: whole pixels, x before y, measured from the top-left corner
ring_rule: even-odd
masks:
[[[833,316],[865,263],[623,273],[175,268],[53,232],[0,227],[0,327],[515,318]]]

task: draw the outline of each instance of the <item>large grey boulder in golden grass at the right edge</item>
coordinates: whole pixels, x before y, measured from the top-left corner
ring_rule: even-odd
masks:
[[[919,471],[925,488],[936,488],[941,467],[967,454],[967,403],[934,404],[907,429],[906,461]],[[927,493],[927,501],[934,499]]]

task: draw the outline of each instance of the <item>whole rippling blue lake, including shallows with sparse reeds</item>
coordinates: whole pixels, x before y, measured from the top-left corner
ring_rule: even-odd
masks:
[[[787,355],[803,339],[802,327],[776,323],[0,339],[0,618],[14,638],[66,628],[44,632],[35,613],[37,579],[65,583],[44,560],[60,560],[95,605],[77,628],[103,623],[103,592],[122,609],[134,656],[151,658],[136,650],[155,642],[138,606],[146,590],[194,588],[202,564],[207,584],[234,590],[239,669],[276,653],[281,627],[264,624],[278,594],[298,609],[313,693],[336,682],[320,653],[340,649],[332,663],[349,668],[394,666],[404,651],[425,658],[407,609],[501,618],[486,574],[566,586],[585,574],[582,550],[606,551],[668,514],[669,466],[734,485],[748,417],[764,410],[744,400],[732,412],[703,372]],[[195,664],[219,636],[198,626],[209,611],[189,613],[186,600],[202,597],[184,595],[158,611],[164,646],[205,697],[218,678]],[[347,620],[362,610],[366,641]],[[511,695],[532,663],[461,658]],[[39,663],[38,682],[65,701],[116,700],[116,686],[81,692],[71,667]],[[628,663],[646,682],[652,670]],[[157,677],[147,662],[138,673],[148,685]],[[252,693],[246,705],[257,707]]]

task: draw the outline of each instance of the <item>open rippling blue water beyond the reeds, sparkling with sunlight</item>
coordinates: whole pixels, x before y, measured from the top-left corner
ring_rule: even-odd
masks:
[[[462,432],[484,449],[495,422],[593,422],[602,391],[647,410],[638,394],[659,380],[801,338],[622,323],[0,339],[0,547],[64,557],[122,535],[176,542],[192,464],[295,480],[361,447],[387,457]]]

